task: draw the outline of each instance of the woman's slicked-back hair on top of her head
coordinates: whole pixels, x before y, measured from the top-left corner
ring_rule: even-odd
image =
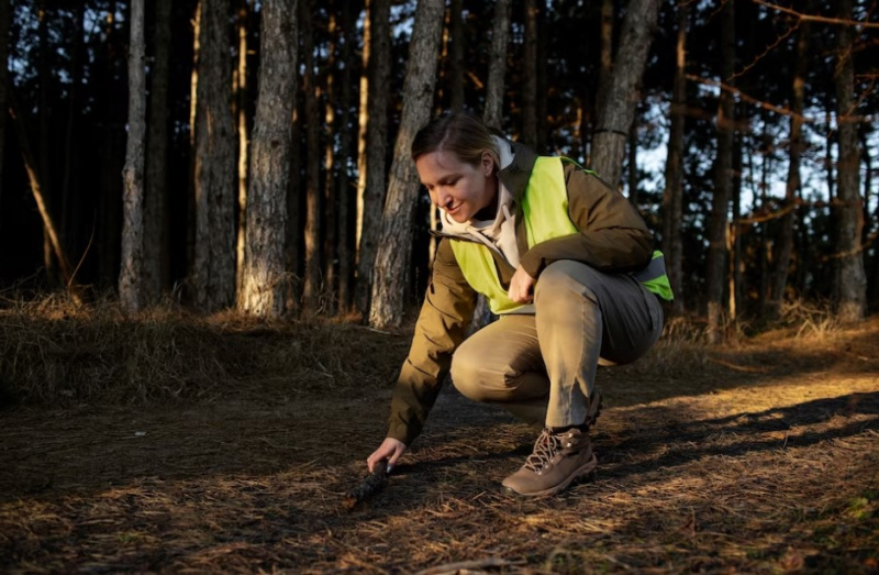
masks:
[[[415,134],[411,148],[412,161],[433,152],[448,152],[465,164],[478,166],[482,162],[482,152],[488,152],[498,169],[500,152],[494,136],[503,137],[469,112],[446,113]]]

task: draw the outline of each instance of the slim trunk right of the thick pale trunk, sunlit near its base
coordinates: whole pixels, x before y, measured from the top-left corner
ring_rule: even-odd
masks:
[[[304,310],[316,313],[321,291],[321,157],[318,95],[314,86],[313,0],[299,4],[302,26],[302,52],[305,73],[302,88],[305,95],[305,284],[302,291]]]

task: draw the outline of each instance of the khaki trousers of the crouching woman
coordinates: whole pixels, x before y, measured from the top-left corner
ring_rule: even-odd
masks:
[[[599,360],[634,362],[663,331],[658,299],[636,279],[569,259],[543,270],[534,307],[468,338],[452,358],[452,380],[470,399],[546,427],[582,423]]]

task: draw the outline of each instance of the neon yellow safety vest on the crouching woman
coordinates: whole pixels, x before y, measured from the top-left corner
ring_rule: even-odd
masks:
[[[539,193],[530,193],[532,189],[539,190]],[[522,198],[522,214],[525,218],[528,248],[554,237],[577,233],[577,226],[568,215],[563,158],[536,159]],[[522,307],[522,303],[516,303],[507,295],[489,247],[477,242],[453,240],[452,251],[464,278],[470,287],[488,298],[492,313],[510,313]],[[633,275],[649,291],[663,299],[672,299],[661,252],[654,252],[650,264]]]

